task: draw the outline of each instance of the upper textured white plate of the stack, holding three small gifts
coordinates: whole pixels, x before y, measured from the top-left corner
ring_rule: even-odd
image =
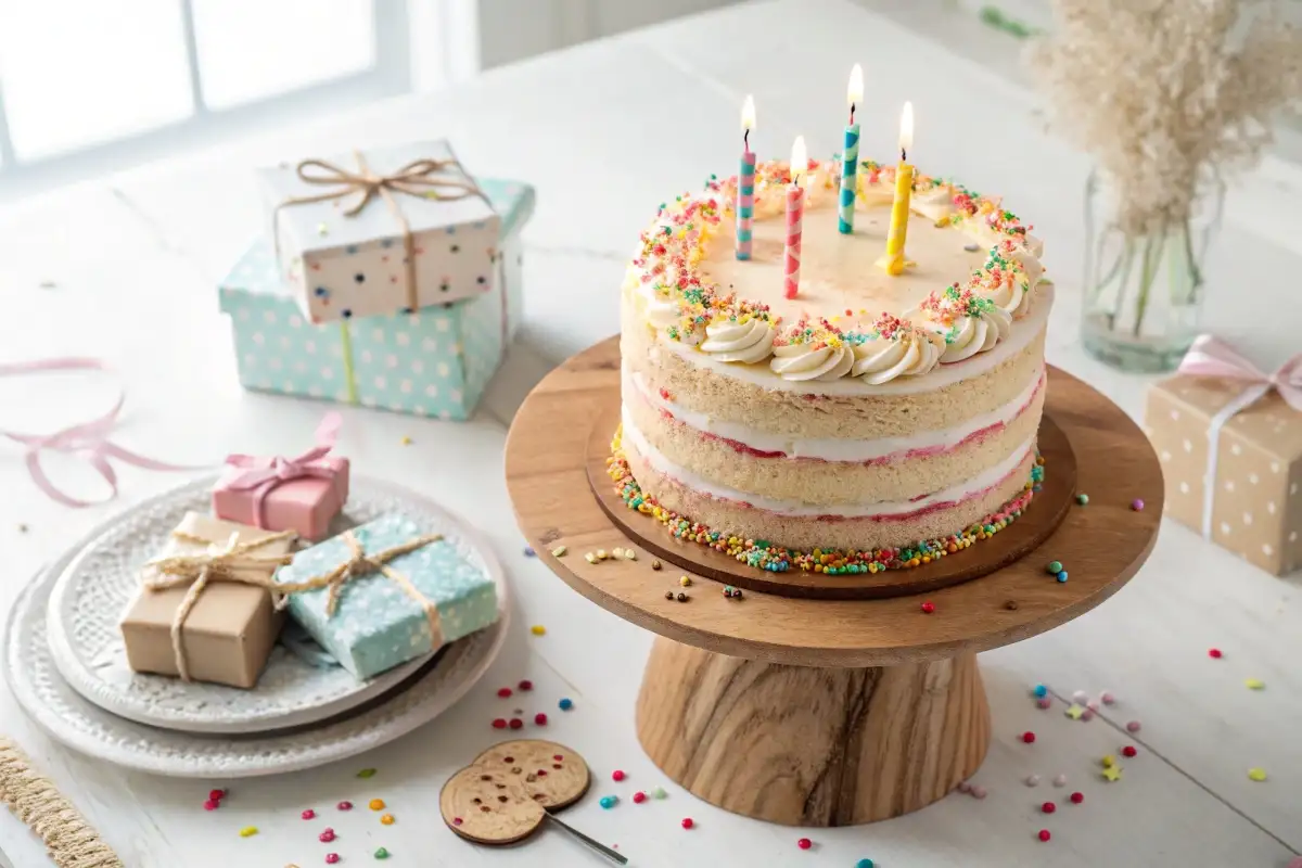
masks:
[[[120,515],[57,579],[49,599],[49,649],[59,671],[82,696],[128,720],[187,733],[268,733],[315,724],[370,701],[428,662],[426,655],[368,682],[339,666],[312,666],[277,645],[253,690],[185,683],[132,671],[118,619],[139,588],[141,565],[156,557],[187,510],[207,511],[212,478],[198,479]],[[411,492],[354,479],[340,527],[401,510],[443,534],[467,561],[501,584],[491,550],[466,528]]]

